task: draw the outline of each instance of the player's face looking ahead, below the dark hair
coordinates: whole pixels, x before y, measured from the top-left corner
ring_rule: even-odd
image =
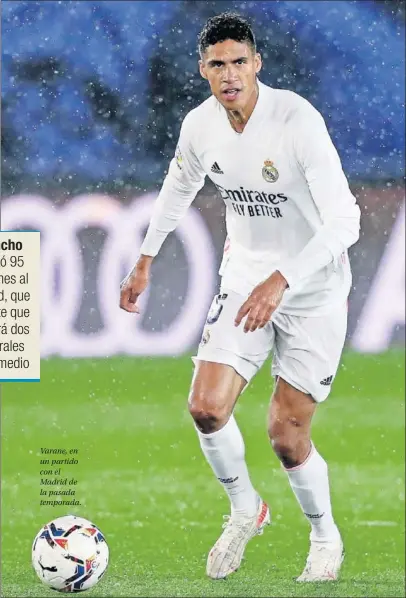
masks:
[[[227,110],[243,110],[255,95],[261,56],[246,43],[228,39],[209,46],[199,61],[200,74]]]

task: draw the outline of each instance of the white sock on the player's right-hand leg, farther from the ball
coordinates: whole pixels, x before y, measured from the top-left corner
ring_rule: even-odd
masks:
[[[309,456],[297,467],[285,469],[293,492],[312,527],[311,540],[335,542],[340,533],[331,510],[327,463],[312,444]]]

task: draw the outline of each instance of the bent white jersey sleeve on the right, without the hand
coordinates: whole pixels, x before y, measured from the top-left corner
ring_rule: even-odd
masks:
[[[292,124],[295,159],[321,218],[320,228],[302,251],[278,267],[294,289],[304,279],[336,262],[358,240],[360,210],[320,113],[307,103]]]

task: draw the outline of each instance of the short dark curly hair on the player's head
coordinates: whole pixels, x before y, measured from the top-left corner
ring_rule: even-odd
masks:
[[[235,12],[223,12],[208,19],[201,30],[198,38],[200,55],[203,56],[209,46],[227,39],[245,42],[253,52],[256,51],[255,36],[249,22]]]

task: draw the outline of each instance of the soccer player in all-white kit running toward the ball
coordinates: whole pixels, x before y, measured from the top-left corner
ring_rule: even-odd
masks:
[[[139,312],[154,256],[209,176],[226,205],[227,241],[188,405],[231,516],[208,555],[207,574],[218,579],[236,571],[248,541],[270,522],[249,477],[233,409],[272,351],[268,434],[311,526],[298,581],[335,580],[343,542],[327,464],[310,428],[344,345],[347,249],[358,239],[360,211],[320,113],[294,92],[258,80],[261,56],[245,19],[210,18],[199,52],[212,95],[183,121],[120,306]]]

